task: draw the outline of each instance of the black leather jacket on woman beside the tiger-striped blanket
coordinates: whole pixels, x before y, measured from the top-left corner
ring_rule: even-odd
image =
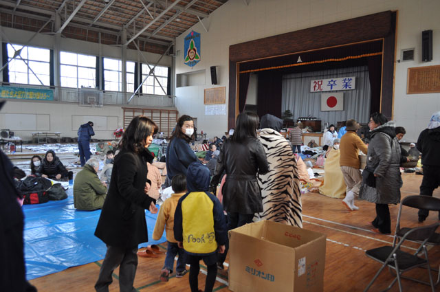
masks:
[[[210,192],[215,194],[223,170],[226,182],[223,185],[223,207],[227,212],[253,214],[263,212],[261,190],[256,179],[269,172],[269,164],[259,139],[248,138],[243,142],[227,139],[217,158]]]

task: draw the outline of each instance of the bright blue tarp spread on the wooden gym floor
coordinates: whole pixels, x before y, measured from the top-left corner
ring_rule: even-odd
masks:
[[[105,244],[94,236],[101,210],[75,210],[72,188],[67,194],[69,197],[63,201],[23,205],[28,280],[102,260],[105,256]],[[157,214],[148,211],[145,214],[148,238],[152,238]],[[162,236],[140,247],[165,241],[166,237]]]

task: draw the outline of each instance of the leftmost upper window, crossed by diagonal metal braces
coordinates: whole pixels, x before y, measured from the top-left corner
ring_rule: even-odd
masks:
[[[22,49],[20,56],[12,59],[19,49]],[[33,85],[43,82],[43,85],[50,85],[50,49],[8,44],[8,60],[11,60],[8,65],[9,82]]]

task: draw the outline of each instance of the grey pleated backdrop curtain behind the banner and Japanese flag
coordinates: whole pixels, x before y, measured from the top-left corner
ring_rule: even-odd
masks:
[[[321,111],[321,93],[311,93],[311,80],[356,77],[354,90],[344,90],[344,111]],[[329,92],[329,91],[326,91]],[[283,76],[282,111],[289,109],[298,117],[317,117],[329,124],[355,119],[369,122],[371,87],[367,66],[329,69],[324,71],[288,74]]]

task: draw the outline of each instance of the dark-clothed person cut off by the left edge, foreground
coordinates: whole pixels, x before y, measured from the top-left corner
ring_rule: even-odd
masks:
[[[5,102],[0,102],[0,109]],[[26,281],[24,216],[17,202],[12,164],[0,150],[0,291],[36,291]]]

